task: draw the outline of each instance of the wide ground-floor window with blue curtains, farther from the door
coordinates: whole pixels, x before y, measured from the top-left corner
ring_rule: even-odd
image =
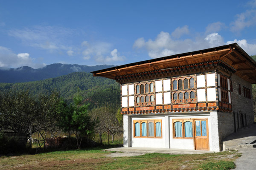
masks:
[[[134,137],[162,138],[162,120],[134,120]]]

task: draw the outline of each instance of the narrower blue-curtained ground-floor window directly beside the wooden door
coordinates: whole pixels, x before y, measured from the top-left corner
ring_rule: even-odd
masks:
[[[192,119],[173,119],[173,138],[189,139],[193,137]]]

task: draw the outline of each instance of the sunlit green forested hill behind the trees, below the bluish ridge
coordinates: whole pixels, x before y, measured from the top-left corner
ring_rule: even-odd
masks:
[[[80,89],[85,103],[90,103],[90,108],[105,105],[106,102],[120,105],[120,86],[112,79],[93,77],[91,73],[77,72],[57,78],[45,79],[34,82],[0,83],[0,90],[29,90],[32,95],[47,94],[58,91],[61,97],[71,101],[74,94]]]

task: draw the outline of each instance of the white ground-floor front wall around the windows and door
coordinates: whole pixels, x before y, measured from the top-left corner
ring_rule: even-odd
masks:
[[[162,138],[134,138],[134,120],[162,120]],[[172,119],[208,119],[209,150],[219,151],[218,112],[169,113],[165,115],[124,115],[124,147],[155,147],[194,150],[194,139],[173,138]]]

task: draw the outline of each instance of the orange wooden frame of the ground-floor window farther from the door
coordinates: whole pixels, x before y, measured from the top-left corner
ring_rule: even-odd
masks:
[[[152,122],[154,123],[154,136],[148,136],[148,122]],[[142,123],[145,122],[147,125],[147,136],[142,136]],[[161,123],[161,136],[157,137],[156,134],[156,123],[160,122]],[[135,136],[135,123],[139,123],[140,124],[140,136]],[[163,138],[163,122],[162,119],[146,119],[146,120],[134,120],[133,121],[133,127],[134,127],[134,138],[150,138],[150,139],[162,139]]]

